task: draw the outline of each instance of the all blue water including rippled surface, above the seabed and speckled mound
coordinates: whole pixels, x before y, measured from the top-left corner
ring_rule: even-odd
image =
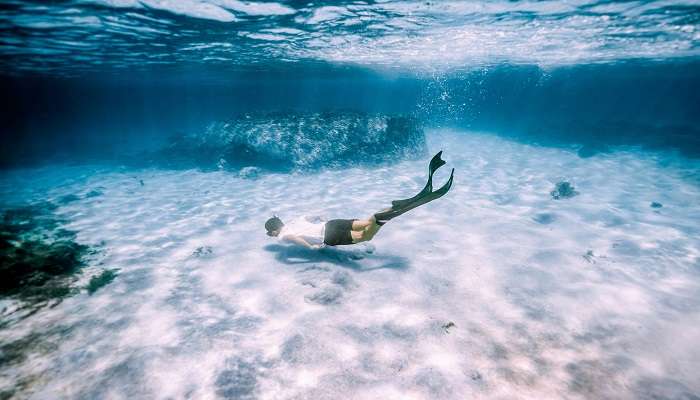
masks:
[[[662,1],[4,2],[0,164],[334,110],[697,157],[699,20],[697,3]]]

